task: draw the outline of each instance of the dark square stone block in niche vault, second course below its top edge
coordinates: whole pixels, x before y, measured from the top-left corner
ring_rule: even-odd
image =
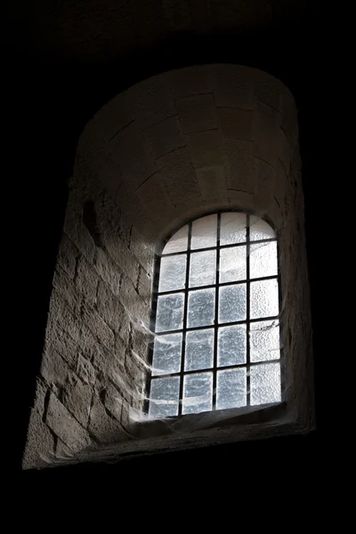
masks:
[[[198,94],[176,101],[184,134],[217,128],[213,94]]]

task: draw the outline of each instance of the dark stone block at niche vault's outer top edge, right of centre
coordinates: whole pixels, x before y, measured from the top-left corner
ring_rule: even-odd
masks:
[[[253,86],[246,69],[236,65],[214,65],[211,69],[216,106],[253,109]]]

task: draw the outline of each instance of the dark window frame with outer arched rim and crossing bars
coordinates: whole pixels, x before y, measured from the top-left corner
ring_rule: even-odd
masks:
[[[236,213],[236,214],[245,214],[247,217],[247,226],[246,226],[246,241],[239,242],[239,243],[232,243],[229,245],[220,245],[220,230],[221,230],[221,216],[224,213]],[[214,247],[205,247],[205,248],[197,248],[197,249],[191,249],[190,243],[191,243],[191,229],[192,224],[195,221],[198,221],[198,219],[201,219],[203,217],[206,217],[208,215],[217,215],[217,233],[216,233],[216,245]],[[274,231],[274,238],[271,239],[257,239],[254,241],[250,241],[250,217],[254,216],[257,217],[259,220],[267,223],[270,225],[271,229]],[[166,255],[162,256],[163,250],[166,247],[166,244],[168,241],[174,236],[174,234],[181,230],[185,225],[188,225],[188,244],[187,249],[182,252],[173,252],[168,253]],[[276,242],[277,245],[277,274],[266,276],[266,277],[259,277],[254,278],[251,280],[250,278],[250,247],[251,244],[255,245],[258,243],[264,243],[264,242]],[[216,250],[216,267],[219,267],[219,261],[220,261],[220,255],[219,252],[222,248],[230,248],[230,247],[240,247],[240,246],[246,246],[247,247],[247,276],[246,279],[238,280],[238,281],[228,281],[228,282],[220,282],[218,276],[216,276],[215,283],[207,286],[198,286],[198,287],[190,287],[189,286],[189,279],[190,279],[190,255],[192,252],[204,252],[208,250]],[[160,263],[162,257],[168,257],[168,256],[174,256],[174,255],[187,255],[187,264],[186,264],[186,276],[185,276],[185,287],[181,289],[174,289],[171,291],[161,291],[158,292],[158,285],[159,285],[159,277],[160,277]],[[218,272],[218,271],[217,271]],[[194,217],[193,219],[186,220],[185,223],[181,223],[178,227],[174,229],[174,231],[171,231],[169,236],[162,240],[160,243],[158,243],[157,250],[155,253],[155,261],[154,261],[154,279],[153,279],[153,286],[152,286],[152,299],[151,299],[151,314],[150,314],[150,331],[156,333],[156,322],[157,322],[157,307],[158,307],[158,296],[159,295],[171,295],[171,294],[178,294],[183,293],[184,294],[184,307],[183,307],[183,325],[182,328],[178,330],[169,330],[169,331],[162,331],[159,332],[159,335],[164,334],[174,334],[177,332],[182,333],[182,357],[181,357],[181,369],[179,372],[176,373],[166,373],[165,375],[155,375],[152,376],[151,370],[149,369],[146,373],[146,381],[145,381],[145,391],[146,391],[146,399],[144,401],[144,408],[143,412],[145,414],[149,414],[150,409],[150,384],[152,379],[156,379],[159,377],[164,376],[180,376],[180,388],[179,388],[179,399],[178,399],[178,414],[175,416],[167,416],[166,418],[169,420],[175,420],[182,417],[190,417],[194,416],[197,413],[209,413],[209,412],[216,412],[216,411],[230,411],[231,415],[237,415],[240,413],[246,413],[247,409],[266,409],[269,407],[276,407],[276,406],[283,406],[286,402],[286,361],[285,361],[285,352],[284,352],[284,328],[281,319],[282,314],[282,302],[283,302],[283,296],[282,296],[282,288],[281,288],[281,271],[280,271],[280,247],[279,247],[279,232],[276,230],[274,224],[269,220],[267,217],[261,217],[259,214],[255,214],[252,211],[247,210],[239,210],[239,209],[233,209],[233,208],[226,208],[226,209],[219,209],[214,210],[211,212],[207,212],[204,214],[199,214],[197,217]],[[251,281],[260,281],[260,280],[267,280],[267,279],[277,279],[277,286],[278,286],[278,305],[279,310],[278,314],[271,317],[260,317],[257,319],[251,319],[250,318],[250,284]],[[219,288],[224,286],[235,286],[239,284],[246,284],[247,287],[247,317],[246,320],[239,320],[239,321],[231,321],[228,323],[219,323],[218,320],[218,306],[219,306]],[[198,291],[201,289],[205,289],[208,287],[214,287],[215,289],[215,295],[214,295],[214,324],[209,326],[200,326],[200,327],[191,327],[187,328],[187,318],[188,318],[188,295],[190,292]],[[248,336],[248,331],[250,328],[251,323],[255,322],[262,322],[267,320],[279,320],[279,358],[275,360],[261,360],[256,362],[251,362],[250,360],[250,336]],[[222,327],[232,327],[235,325],[246,325],[247,328],[247,351],[246,351],[246,361],[241,364],[233,364],[230,366],[223,366],[218,367],[217,366],[217,346],[218,346],[218,331],[219,328]],[[184,370],[184,361],[185,361],[185,343],[186,343],[186,335],[187,332],[190,331],[201,331],[207,328],[213,328],[214,329],[214,363],[212,368],[201,368],[201,369],[193,369],[193,370]],[[152,366],[153,362],[153,349],[154,349],[154,342],[152,341],[150,343],[149,347],[149,365]],[[279,368],[280,368],[280,401],[272,402],[268,404],[257,404],[257,405],[251,405],[250,401],[250,368],[258,365],[263,364],[270,364],[270,363],[276,363],[279,362]],[[216,380],[217,380],[217,371],[218,370],[229,370],[234,368],[246,368],[247,370],[247,404],[243,407],[233,407],[233,408],[224,408],[224,409],[217,409],[216,408]],[[213,372],[213,397],[212,397],[212,408],[208,410],[207,412],[194,412],[194,413],[182,413],[182,398],[183,398],[183,383],[184,383],[184,376],[187,375],[194,375],[197,373],[205,373],[205,372]],[[152,418],[152,421],[159,420],[158,418]]]

